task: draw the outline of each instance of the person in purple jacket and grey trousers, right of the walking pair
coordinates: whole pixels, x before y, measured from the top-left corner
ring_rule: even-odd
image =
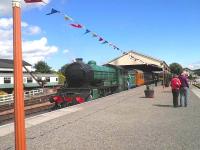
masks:
[[[186,77],[186,73],[183,72],[179,76],[179,80],[181,81],[181,88],[180,88],[180,106],[183,106],[183,98],[184,98],[184,105],[187,107],[187,102],[188,102],[188,90],[189,90],[189,84],[188,84],[188,79]]]

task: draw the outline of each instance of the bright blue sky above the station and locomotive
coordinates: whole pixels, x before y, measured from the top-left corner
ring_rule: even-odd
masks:
[[[42,43],[41,52],[45,53],[37,53],[40,47],[35,47],[24,50],[25,58],[31,61],[35,51],[42,57],[32,63],[43,59],[57,70],[77,57],[103,64],[122,55],[108,44],[100,44],[91,34],[83,35],[84,29],[70,27],[71,22],[63,16],[45,15],[55,8],[123,51],[135,50],[168,64],[178,62],[184,67],[200,68],[199,7],[199,0],[51,0],[45,6],[24,5],[22,21],[28,25],[23,28],[23,39]],[[8,11],[1,18],[10,16]]]

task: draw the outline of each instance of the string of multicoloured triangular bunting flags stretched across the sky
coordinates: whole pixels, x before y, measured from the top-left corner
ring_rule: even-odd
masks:
[[[33,2],[42,2],[42,0],[25,0],[26,3],[33,3]],[[119,47],[117,47],[116,45],[112,44],[111,42],[108,42],[107,40],[105,40],[104,38],[102,38],[100,35],[96,34],[95,32],[89,30],[88,28],[85,28],[85,26],[77,23],[76,21],[74,21],[73,18],[69,17],[68,15],[64,14],[64,13],[61,13],[60,11],[52,8],[51,9],[51,12],[50,13],[47,13],[46,15],[52,15],[52,14],[55,14],[55,13],[59,13],[60,15],[63,15],[64,16],[64,20],[65,21],[70,21],[71,23],[69,24],[70,26],[74,27],[74,28],[78,28],[78,29],[85,29],[85,32],[84,32],[84,35],[85,34],[91,34],[92,37],[94,38],[98,38],[98,41],[101,42],[101,44],[108,44],[110,47],[112,47],[114,50],[118,50],[120,51],[123,55],[129,55],[129,58],[130,59],[133,59],[134,61],[140,61],[144,64],[146,64],[144,61],[140,60],[140,59],[137,59],[137,58],[134,58],[130,53],[127,53],[123,50],[121,50]]]

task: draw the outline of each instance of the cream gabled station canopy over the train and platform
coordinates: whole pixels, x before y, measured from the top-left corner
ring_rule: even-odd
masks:
[[[121,66],[128,70],[139,69],[146,72],[170,71],[169,66],[165,61],[135,51],[129,51],[128,53],[111,60],[107,64]]]

